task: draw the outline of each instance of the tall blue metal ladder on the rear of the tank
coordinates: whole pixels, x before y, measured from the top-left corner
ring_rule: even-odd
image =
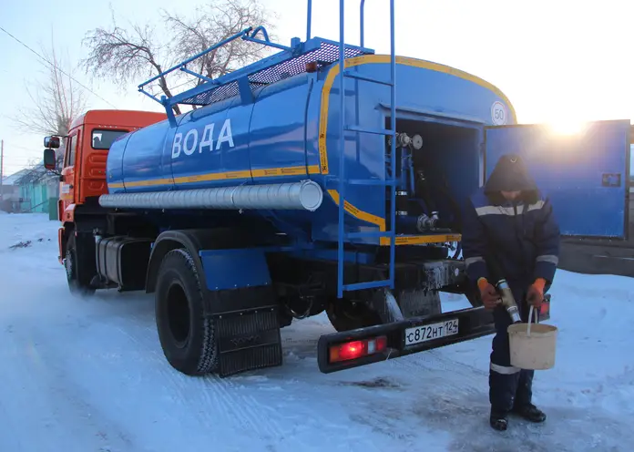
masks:
[[[339,233],[338,233],[338,249],[337,249],[337,296],[339,298],[343,297],[343,292],[351,292],[358,291],[362,289],[373,289],[379,287],[389,287],[390,289],[394,289],[394,263],[395,263],[395,241],[396,241],[396,231],[395,231],[395,222],[396,222],[396,56],[394,53],[394,0],[390,0],[390,80],[379,80],[372,77],[363,77],[355,74],[351,71],[345,71],[344,60],[344,35],[343,35],[343,23],[344,23],[344,2],[345,0],[340,0],[339,2],[339,73],[342,77],[339,77],[339,99],[340,99],[340,128],[341,131],[339,138],[339,180],[338,180],[338,190],[339,190]],[[361,20],[361,46],[363,47],[363,9],[364,9],[365,0],[361,0],[360,5],[360,20]],[[363,80],[372,83],[378,83],[380,85],[390,87],[390,108],[391,108],[391,118],[390,118],[390,129],[385,128],[363,128],[359,125],[349,126],[345,124],[345,115],[344,115],[344,100],[345,100],[345,79],[346,78],[354,78],[357,80]],[[383,136],[391,136],[391,150],[390,150],[390,159],[389,161],[385,161],[385,178],[384,180],[345,180],[345,158],[344,158],[344,132],[345,131],[354,131],[356,133],[372,133],[376,135]],[[345,221],[345,187],[346,185],[365,185],[365,186],[383,186],[390,188],[390,230],[389,231],[371,231],[371,232],[344,232],[344,221]],[[387,226],[387,221],[386,221]],[[386,228],[385,228],[386,229]],[[343,269],[345,265],[344,261],[344,239],[358,239],[358,238],[378,238],[379,241],[381,238],[388,238],[390,240],[390,263],[389,263],[389,276],[386,280],[379,281],[368,281],[368,282],[356,282],[352,284],[344,284],[343,283]]]

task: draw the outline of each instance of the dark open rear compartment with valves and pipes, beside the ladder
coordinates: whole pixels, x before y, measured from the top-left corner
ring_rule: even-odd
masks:
[[[396,131],[410,140],[397,139],[396,233],[459,233],[463,204],[480,185],[482,128],[422,118],[397,119]]]

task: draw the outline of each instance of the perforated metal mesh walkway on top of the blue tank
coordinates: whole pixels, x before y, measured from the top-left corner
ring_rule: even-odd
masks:
[[[344,55],[346,58],[362,54],[363,50],[359,48],[346,47],[344,49]],[[259,87],[264,87],[266,85],[270,85],[271,83],[279,82],[285,78],[303,74],[306,72],[307,63],[317,62],[321,65],[328,65],[335,61],[339,61],[339,45],[322,42],[320,48],[318,49],[291,58],[278,65],[266,67],[251,74],[249,76],[251,92]],[[226,85],[220,85],[220,87],[212,87],[209,91],[182,100],[180,103],[199,106],[210,105],[215,102],[220,102],[226,98],[238,96],[239,93],[238,82],[232,81]]]

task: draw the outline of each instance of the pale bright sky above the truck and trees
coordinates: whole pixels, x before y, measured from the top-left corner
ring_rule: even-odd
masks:
[[[306,35],[304,0],[260,0],[277,15],[278,42]],[[188,15],[205,2],[194,0],[0,0],[0,26],[38,50],[49,46],[69,62],[71,74],[117,108],[161,111],[138,93],[135,80],[121,88],[91,80],[77,68],[87,56],[82,38],[97,26],[158,24],[159,10]],[[313,0],[312,35],[339,38],[339,1]],[[627,0],[398,0],[396,53],[457,67],[502,89],[520,123],[568,125],[600,119],[634,119],[634,7]],[[365,7],[365,46],[389,53],[389,1]],[[257,24],[256,24],[257,25]],[[346,0],[346,42],[359,44],[359,0]],[[52,36],[52,37],[51,37]],[[43,137],[17,129],[12,117],[31,99],[25,87],[46,77],[41,60],[0,31],[0,139],[5,174],[41,159]],[[111,108],[86,92],[87,108]]]

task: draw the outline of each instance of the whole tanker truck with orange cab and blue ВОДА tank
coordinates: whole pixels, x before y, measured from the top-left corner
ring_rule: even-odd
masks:
[[[599,124],[603,135],[576,142],[600,142],[607,163],[575,167],[559,154],[578,178],[562,175],[543,157],[547,132],[516,126],[499,89],[394,55],[394,2],[390,55],[363,46],[363,14],[361,45],[343,43],[341,3],[339,42],[311,36],[309,1],[303,42],[281,46],[247,28],[141,84],[167,116],[119,130],[107,159],[91,160],[105,162],[103,193],[62,206],[71,289],[154,293],[161,347],[184,374],[281,365],[281,328],[324,311],[336,330],[318,343],[324,373],[492,333],[465,278],[460,207],[509,150],[527,154],[553,189],[564,233],[624,234],[616,175],[627,171],[619,146],[625,159],[629,121]],[[215,79],[189,69],[234,39],[279,52]],[[172,98],[149,94],[173,71],[201,83]],[[175,115],[176,105],[197,108]],[[53,168],[59,141],[45,146]],[[66,193],[98,188],[89,168],[75,166]],[[579,216],[568,200],[587,211]],[[579,228],[588,212],[603,222]],[[465,294],[472,307],[442,312],[440,292]]]

